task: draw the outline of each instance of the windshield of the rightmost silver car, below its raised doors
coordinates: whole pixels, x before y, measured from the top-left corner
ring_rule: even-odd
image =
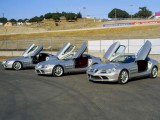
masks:
[[[115,58],[112,62],[121,62],[121,63],[132,63],[135,61],[134,55],[123,55]]]

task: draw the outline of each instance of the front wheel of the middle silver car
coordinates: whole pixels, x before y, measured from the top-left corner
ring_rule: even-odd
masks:
[[[60,77],[63,75],[63,73],[64,73],[64,70],[62,66],[57,65],[53,68],[53,76]]]

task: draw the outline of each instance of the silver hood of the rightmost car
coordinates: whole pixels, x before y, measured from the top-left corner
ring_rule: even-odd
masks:
[[[121,63],[100,63],[92,66],[92,69],[112,69],[117,68]]]

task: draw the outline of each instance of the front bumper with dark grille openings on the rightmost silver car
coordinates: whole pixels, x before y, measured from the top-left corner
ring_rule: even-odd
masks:
[[[118,81],[119,74],[111,73],[111,74],[96,74],[93,72],[88,72],[88,79],[91,81],[108,81],[108,82],[116,82]]]

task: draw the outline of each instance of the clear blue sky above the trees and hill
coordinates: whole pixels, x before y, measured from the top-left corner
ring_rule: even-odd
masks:
[[[160,0],[0,0],[0,17],[25,19],[49,12],[81,12],[92,18],[108,18],[114,9],[134,14],[146,6],[153,13],[160,11]]]

